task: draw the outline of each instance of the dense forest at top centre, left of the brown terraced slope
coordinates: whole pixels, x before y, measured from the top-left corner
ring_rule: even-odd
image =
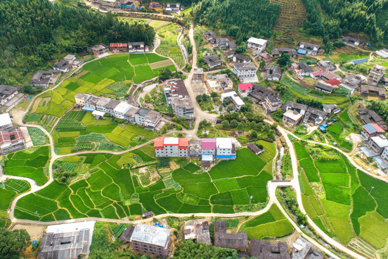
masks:
[[[269,37],[280,14],[280,5],[269,0],[203,0],[193,7],[198,23],[243,37]]]

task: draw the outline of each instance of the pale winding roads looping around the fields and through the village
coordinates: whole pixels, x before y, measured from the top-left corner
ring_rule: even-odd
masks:
[[[189,38],[190,38],[190,42],[191,42],[191,45],[193,46],[193,49],[192,49],[192,54],[193,54],[193,60],[192,60],[192,67],[196,67],[197,66],[197,49],[196,49],[196,42],[193,38],[193,25],[191,24],[191,28],[189,29]],[[176,65],[174,63],[174,65]],[[82,66],[81,66],[82,67]],[[80,68],[81,68],[80,67]],[[79,69],[80,69],[79,68]],[[212,121],[214,122],[217,118],[217,114],[209,114],[207,112],[204,112],[201,110],[199,104],[195,101],[195,93],[191,87],[191,79],[192,79],[192,76],[193,76],[193,70],[191,70],[189,73],[187,73],[187,78],[185,79],[185,84],[186,84],[186,87],[187,87],[187,91],[188,91],[188,94],[193,102],[193,105],[194,105],[194,112],[195,112],[195,116],[196,116],[196,123],[195,123],[195,128],[193,130],[183,130],[183,131],[175,131],[175,132],[183,132],[185,133],[187,136],[190,136],[190,138],[196,138],[197,136],[197,131],[198,131],[198,128],[199,128],[199,122],[203,119],[207,119],[208,121]],[[63,79],[64,80],[64,79]],[[63,82],[63,80],[61,82]],[[57,88],[60,84],[58,83],[56,85],[56,87],[54,87],[53,89]],[[50,89],[50,90],[47,90],[47,91],[52,91],[53,89]],[[45,92],[47,92],[45,91]],[[43,93],[45,93],[43,92]],[[35,96],[31,103],[29,104],[28,108],[26,109],[26,112],[24,113],[24,115],[28,112],[28,110],[30,109],[31,105],[33,104],[33,102],[35,101],[35,99],[38,97],[39,95]],[[24,116],[23,115],[23,116]],[[66,157],[66,156],[72,156],[72,155],[79,155],[79,154],[85,154],[85,153],[101,153],[101,152],[104,152],[104,153],[111,153],[111,154],[123,154],[123,153],[126,153],[126,152],[131,152],[132,150],[134,149],[137,149],[141,146],[144,146],[144,145],[147,145],[149,143],[152,142],[151,141],[148,141],[142,145],[139,145],[135,148],[131,148],[129,150],[126,150],[126,151],[122,151],[122,152],[113,152],[113,151],[84,151],[84,152],[77,152],[77,153],[71,153],[71,154],[67,154],[67,155],[57,155],[55,154],[54,152],[54,141],[53,141],[53,138],[52,136],[50,135],[49,132],[47,132],[45,130],[45,128],[43,128],[42,126],[40,125],[27,125],[27,124],[24,124],[21,119],[23,118],[20,117],[17,121],[14,121],[15,123],[19,124],[20,126],[29,126],[29,127],[37,127],[37,128],[40,128],[48,137],[49,137],[49,141],[50,141],[50,149],[51,149],[51,159],[50,159],[50,179],[49,181],[44,185],[44,186],[38,186],[36,184],[35,181],[31,180],[31,179],[28,179],[28,178],[23,178],[23,177],[14,177],[14,176],[3,176],[2,179],[0,179],[1,181],[4,181],[6,180],[7,178],[10,178],[10,179],[22,179],[22,180],[26,180],[30,183],[31,185],[31,190],[29,192],[26,192],[24,194],[21,194],[19,196],[17,196],[13,202],[12,202],[12,205],[11,205],[11,210],[10,210],[10,213],[9,213],[9,216],[10,216],[10,219],[13,223],[21,223],[21,224],[33,224],[33,225],[54,225],[54,224],[62,224],[62,223],[71,223],[71,222],[82,222],[82,221],[86,221],[86,220],[94,220],[94,221],[104,221],[104,222],[114,222],[114,223],[127,223],[127,224],[137,224],[137,223],[142,223],[142,222],[149,222],[151,221],[152,219],[145,219],[145,220],[138,220],[138,221],[129,221],[129,220],[112,220],[112,219],[101,219],[101,218],[82,218],[82,219],[72,219],[72,220],[65,220],[65,221],[55,221],[55,222],[37,222],[37,221],[29,221],[29,220],[20,220],[20,219],[16,219],[14,217],[14,208],[16,206],[16,203],[17,201],[25,196],[25,195],[28,195],[30,193],[34,193],[38,190],[41,190],[45,187],[47,187],[50,183],[52,183],[54,181],[53,179],[53,171],[52,171],[52,165],[54,163],[54,161],[58,158],[61,158],[61,157]],[[269,124],[272,124],[273,121],[270,121],[270,120],[264,120],[265,122],[269,123]],[[291,143],[291,141],[289,140],[288,138],[288,134],[291,134],[293,137],[299,139],[298,137],[296,137],[295,135],[293,135],[292,133],[288,132],[287,130],[285,130],[284,128],[282,128],[281,126],[278,126],[277,127],[277,130],[279,131],[279,133],[285,138],[286,140],[286,143],[287,143],[287,146],[290,147],[290,155],[291,155],[291,162],[292,162],[292,170],[293,170],[293,180],[291,181],[268,181],[267,183],[267,191],[268,191],[268,195],[269,195],[269,202],[267,204],[267,206],[263,209],[261,209],[260,211],[256,211],[256,212],[240,212],[240,213],[234,213],[234,214],[222,214],[222,213],[187,213],[187,214],[178,214],[178,213],[168,213],[168,214],[161,214],[161,215],[157,215],[155,218],[158,218],[158,219],[161,219],[161,218],[164,218],[164,217],[167,217],[167,216],[174,216],[174,217],[187,217],[187,216],[190,216],[192,214],[195,214],[197,217],[241,217],[241,216],[246,216],[246,215],[249,215],[249,216],[255,216],[255,215],[259,215],[259,214],[262,214],[264,212],[266,212],[269,207],[276,203],[278,205],[278,207],[280,208],[280,210],[283,212],[283,214],[285,215],[285,217],[291,222],[291,224],[293,225],[293,227],[296,229],[297,232],[299,232],[299,234],[301,236],[303,236],[304,238],[308,239],[310,242],[312,242],[314,245],[316,245],[317,247],[319,247],[321,250],[325,251],[326,253],[328,253],[330,256],[336,258],[336,259],[340,259],[336,254],[334,254],[333,252],[331,252],[330,250],[328,250],[326,247],[324,247],[323,245],[321,245],[320,243],[318,243],[315,239],[311,238],[311,237],[308,237],[306,236],[304,233],[302,233],[302,231],[300,230],[299,226],[292,220],[290,219],[288,213],[283,209],[282,205],[280,204],[280,202],[278,201],[277,197],[276,197],[276,189],[279,187],[279,186],[293,186],[295,192],[296,192],[296,195],[297,195],[297,201],[299,203],[299,207],[301,209],[302,212],[305,213],[305,209],[303,208],[303,204],[302,204],[302,200],[301,200],[301,192],[300,192],[300,186],[299,186],[299,181],[298,181],[298,165],[297,165],[297,159],[296,159],[296,154],[295,154],[295,150],[293,148],[293,145]],[[170,134],[172,132],[169,132],[169,133],[166,133],[165,135],[167,134]],[[340,149],[334,147],[334,146],[331,146],[329,144],[323,144],[323,143],[318,143],[318,142],[315,142],[315,141],[307,141],[309,143],[315,143],[315,144],[320,144],[320,145],[325,145],[325,146],[329,146],[333,149],[336,149],[338,150],[339,152],[341,152],[342,154],[344,154],[350,161],[353,165],[355,165],[358,169],[361,169],[362,171],[364,171],[366,174],[372,176],[372,177],[375,177],[379,180],[382,180],[382,181],[385,181],[385,182],[388,182],[386,181],[385,179],[382,179],[382,178],[379,178],[379,177],[376,177],[372,174],[370,174],[369,172],[363,170],[362,168],[360,168],[352,159],[350,156],[348,156],[348,154],[346,154],[345,152],[341,151]],[[344,245],[338,243],[337,241],[335,241],[334,239],[330,238],[329,236],[327,236],[309,217],[308,217],[308,223],[316,230],[317,233],[319,233],[319,235],[327,242],[329,243],[330,245],[333,245],[335,246],[337,249],[347,253],[347,254],[350,254],[351,256],[357,258],[357,259],[366,259],[364,256],[348,249],[347,247],[345,247]]]

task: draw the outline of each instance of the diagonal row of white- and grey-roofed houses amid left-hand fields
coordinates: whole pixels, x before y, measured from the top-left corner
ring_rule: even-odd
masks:
[[[76,94],[74,99],[77,105],[83,107],[82,110],[92,112],[93,116],[97,119],[104,117],[105,114],[109,114],[116,118],[142,125],[151,130],[154,130],[162,119],[159,112],[135,107],[125,100],[119,101],[82,93]]]

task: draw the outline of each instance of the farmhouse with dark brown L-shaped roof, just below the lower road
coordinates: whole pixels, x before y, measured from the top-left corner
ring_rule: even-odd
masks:
[[[233,248],[245,252],[249,248],[248,234],[244,232],[235,234],[226,233],[226,221],[215,221],[214,246]]]

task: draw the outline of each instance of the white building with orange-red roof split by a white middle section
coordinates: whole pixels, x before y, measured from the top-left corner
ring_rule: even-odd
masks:
[[[156,156],[188,157],[188,139],[158,137],[153,142]]]

